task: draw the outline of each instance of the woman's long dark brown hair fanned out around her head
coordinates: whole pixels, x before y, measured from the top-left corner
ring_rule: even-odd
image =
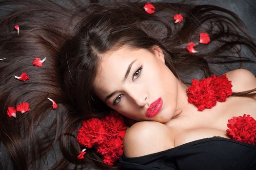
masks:
[[[195,72],[201,73],[199,79],[221,74],[215,65],[239,68],[236,63],[255,63],[241,52],[245,47],[256,56],[256,45],[242,21],[217,6],[156,2],[156,13],[147,14],[144,2],[15,2],[20,8],[0,21],[0,58],[6,58],[0,61],[0,141],[16,170],[44,169],[42,160],[58,147],[63,156],[52,169],[118,169],[118,163],[104,165],[94,149],[77,159],[81,121],[110,111],[92,93],[100,56],[107,51],[124,44],[151,51],[158,45],[168,68],[185,84]],[[10,4],[14,2],[0,2]],[[180,24],[173,21],[177,13],[185,18]],[[19,36],[15,24],[20,26]],[[210,34],[211,42],[197,44],[198,53],[188,53],[187,44],[198,42],[201,32]],[[42,68],[32,65],[35,57],[45,56]],[[21,72],[30,79],[13,78]],[[255,91],[234,95],[249,97]],[[47,97],[59,107],[53,110]],[[7,107],[19,102],[29,102],[31,111],[8,118]]]

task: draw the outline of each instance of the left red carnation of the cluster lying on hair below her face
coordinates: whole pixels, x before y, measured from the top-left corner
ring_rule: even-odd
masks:
[[[106,137],[104,127],[98,118],[91,118],[82,122],[81,128],[78,130],[78,142],[87,148],[93,145],[101,144]]]

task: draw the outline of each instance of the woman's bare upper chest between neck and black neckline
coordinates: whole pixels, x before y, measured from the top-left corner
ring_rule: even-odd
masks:
[[[190,116],[173,121],[170,127],[174,135],[175,146],[195,140],[226,135],[228,119],[251,115],[256,119],[256,100],[250,98],[231,97],[226,102],[204,112],[191,113]]]

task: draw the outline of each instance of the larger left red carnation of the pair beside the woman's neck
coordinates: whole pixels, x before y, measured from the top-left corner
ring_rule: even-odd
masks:
[[[188,86],[188,102],[195,104],[198,111],[202,111],[205,108],[210,109],[216,105],[213,79],[213,77],[208,77],[200,82],[194,79],[192,80],[192,85]]]

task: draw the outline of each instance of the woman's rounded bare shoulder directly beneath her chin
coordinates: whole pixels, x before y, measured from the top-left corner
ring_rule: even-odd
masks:
[[[132,125],[124,136],[124,154],[138,157],[174,148],[170,129],[156,121],[140,121]]]

